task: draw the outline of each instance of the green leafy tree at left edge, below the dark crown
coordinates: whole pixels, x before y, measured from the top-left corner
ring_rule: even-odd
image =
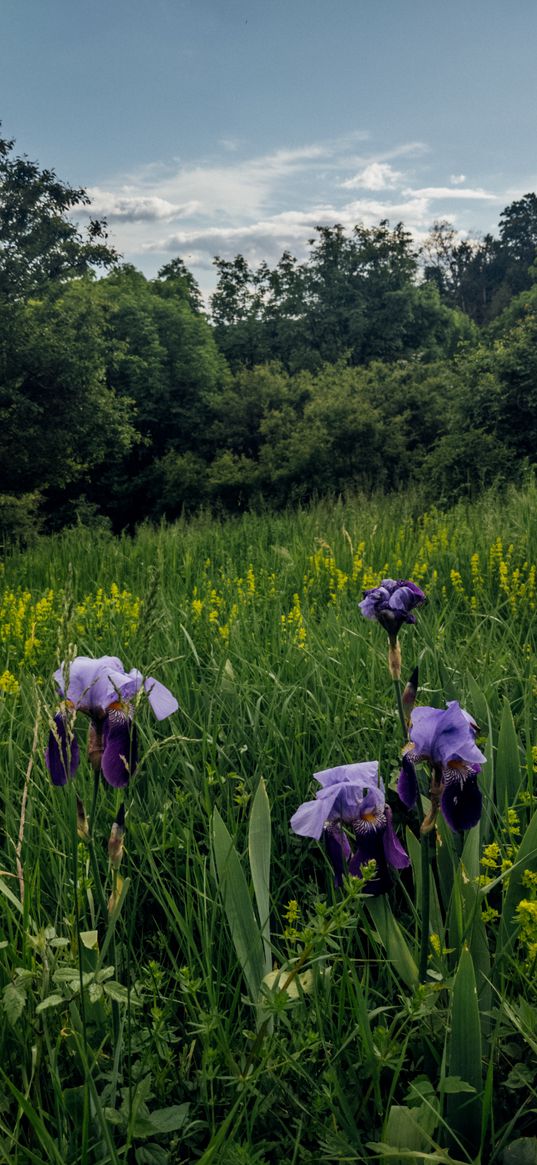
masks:
[[[101,312],[89,278],[12,306],[0,348],[0,492],[72,495],[134,438],[132,402],[106,382]]]

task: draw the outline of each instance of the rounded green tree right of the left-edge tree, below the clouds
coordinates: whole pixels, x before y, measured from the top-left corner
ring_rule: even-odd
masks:
[[[227,367],[186,283],[177,267],[163,281],[123,266],[96,284],[107,383],[135,408],[136,443],[109,460],[91,495],[116,525],[162,513],[163,466],[167,513],[176,511],[175,485],[190,490],[192,465],[212,451],[210,402]]]

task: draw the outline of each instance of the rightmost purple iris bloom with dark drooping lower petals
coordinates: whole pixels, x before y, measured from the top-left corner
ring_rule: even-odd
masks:
[[[486,756],[475,743],[478,726],[451,700],[446,708],[415,708],[410,722],[410,748],[403,756],[397,792],[408,809],[416,804],[415,765],[432,770],[431,797],[451,829],[471,829],[481,817],[482,797],[478,774]]]

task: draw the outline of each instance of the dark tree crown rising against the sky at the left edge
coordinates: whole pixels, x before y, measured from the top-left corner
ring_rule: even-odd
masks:
[[[15,156],[13,148],[13,140],[0,137],[0,301],[113,264],[118,256],[106,224],[91,219],[82,233],[69,217],[90,204],[86,191]]]

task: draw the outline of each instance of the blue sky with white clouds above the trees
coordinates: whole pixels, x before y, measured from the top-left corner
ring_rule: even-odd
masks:
[[[0,0],[0,118],[125,261],[303,257],[318,225],[497,233],[537,190],[535,0]],[[79,216],[84,224],[84,213]]]

